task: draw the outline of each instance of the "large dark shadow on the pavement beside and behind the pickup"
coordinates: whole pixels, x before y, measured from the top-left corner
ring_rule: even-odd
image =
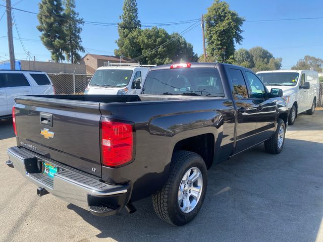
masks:
[[[198,216],[183,227],[157,218],[150,198],[137,212],[95,217],[72,204],[99,238],[117,241],[315,241],[323,213],[323,144],[286,139],[281,154],[259,145],[208,172]]]

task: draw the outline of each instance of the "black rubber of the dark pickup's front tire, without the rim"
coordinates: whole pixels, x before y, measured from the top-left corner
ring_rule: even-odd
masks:
[[[281,134],[279,134],[281,128],[283,129],[283,142],[281,143],[281,145],[279,145],[278,139],[279,139],[279,136],[281,136]],[[285,143],[285,132],[286,132],[285,122],[283,119],[279,118],[277,122],[277,129],[273,137],[264,142],[264,148],[267,153],[271,153],[271,154],[281,153]]]

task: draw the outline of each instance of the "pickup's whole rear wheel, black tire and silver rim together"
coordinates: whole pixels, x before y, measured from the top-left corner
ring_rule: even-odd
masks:
[[[190,151],[173,155],[164,187],[152,196],[159,218],[181,226],[192,221],[200,210],[207,187],[207,169],[201,156]]]

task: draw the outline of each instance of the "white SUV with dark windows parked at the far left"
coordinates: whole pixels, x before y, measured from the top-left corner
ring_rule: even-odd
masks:
[[[0,70],[0,118],[12,116],[16,94],[55,94],[44,72]]]

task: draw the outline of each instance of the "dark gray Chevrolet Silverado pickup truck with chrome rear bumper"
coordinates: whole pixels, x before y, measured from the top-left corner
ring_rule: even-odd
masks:
[[[94,215],[131,213],[133,201],[152,196],[161,219],[184,225],[203,203],[212,164],[262,142],[281,152],[282,94],[248,69],[192,63],[152,68],[141,95],[16,96],[7,164],[40,196]]]

